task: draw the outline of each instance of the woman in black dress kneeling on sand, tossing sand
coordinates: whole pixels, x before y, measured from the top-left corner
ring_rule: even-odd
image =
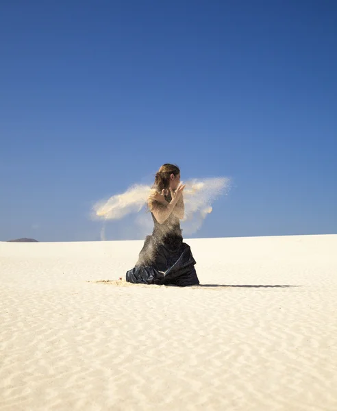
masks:
[[[180,170],[164,164],[155,175],[148,199],[154,228],[147,236],[134,269],[127,271],[126,280],[141,284],[173,284],[195,286],[199,279],[190,247],[183,242],[179,220],[184,218]]]

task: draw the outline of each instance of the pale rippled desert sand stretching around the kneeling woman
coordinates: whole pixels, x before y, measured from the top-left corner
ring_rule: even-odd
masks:
[[[186,242],[215,286],[95,282],[142,241],[0,242],[0,410],[336,411],[337,236]]]

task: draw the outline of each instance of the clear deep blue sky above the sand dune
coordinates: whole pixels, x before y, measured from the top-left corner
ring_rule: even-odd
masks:
[[[336,2],[3,1],[0,36],[0,240],[97,240],[165,162],[234,181],[194,237],[337,232]]]

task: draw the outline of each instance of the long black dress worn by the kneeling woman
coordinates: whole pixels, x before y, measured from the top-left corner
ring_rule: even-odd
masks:
[[[127,271],[126,280],[134,284],[173,284],[195,286],[199,279],[190,246],[183,242],[179,218],[171,213],[160,224],[151,213],[154,228],[145,238],[138,262]]]

